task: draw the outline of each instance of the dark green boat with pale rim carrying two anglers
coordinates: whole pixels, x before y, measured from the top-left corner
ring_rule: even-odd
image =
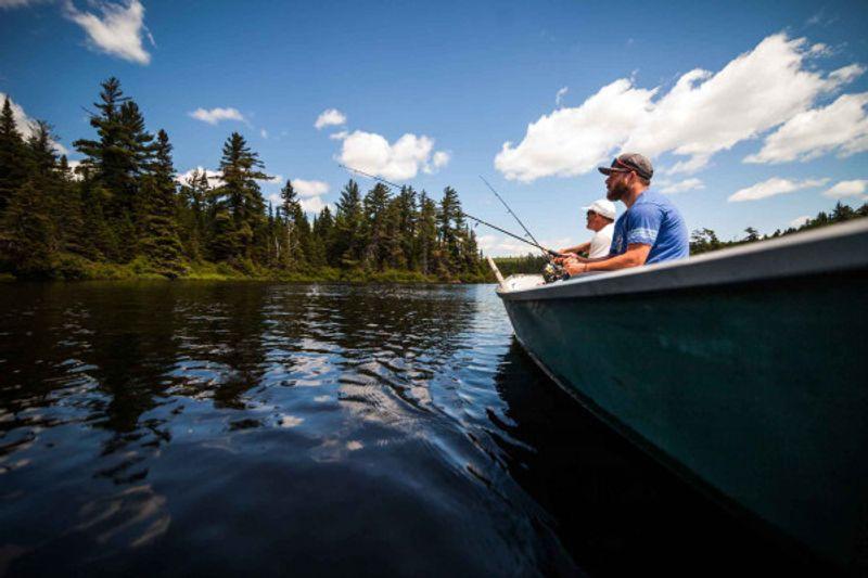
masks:
[[[497,294],[529,357],[598,418],[797,550],[866,571],[868,219],[500,278]]]

